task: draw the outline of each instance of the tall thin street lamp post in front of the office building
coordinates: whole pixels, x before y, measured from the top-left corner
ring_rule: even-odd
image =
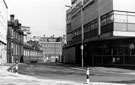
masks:
[[[82,60],[82,63],[81,63],[81,66],[84,67],[84,27],[83,27],[83,0],[81,0],[81,33],[82,33],[82,36],[81,36],[81,60]],[[71,6],[68,6],[68,5],[65,5],[66,7],[69,7],[69,8],[72,8]],[[77,7],[78,8],[78,7]]]

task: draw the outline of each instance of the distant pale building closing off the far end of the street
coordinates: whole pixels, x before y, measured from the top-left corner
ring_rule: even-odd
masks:
[[[42,46],[44,58],[57,58],[61,61],[62,56],[62,46],[64,45],[63,37],[36,37],[35,40],[38,40],[39,44]]]

